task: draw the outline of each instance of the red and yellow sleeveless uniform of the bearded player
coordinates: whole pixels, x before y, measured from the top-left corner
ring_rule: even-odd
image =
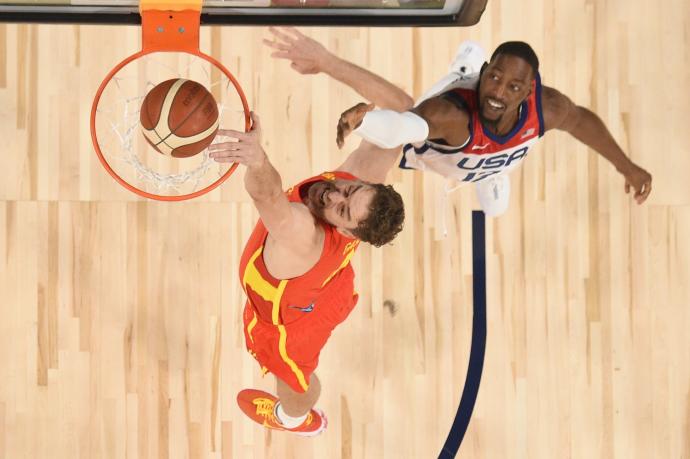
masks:
[[[335,179],[356,178],[340,171],[325,172],[290,188],[288,199],[300,202],[302,187]],[[268,231],[261,220],[240,259],[240,282],[247,294],[247,348],[264,371],[271,371],[299,392],[307,389],[309,375],[331,331],[347,318],[357,302],[350,259],[359,240],[326,223],[321,227],[321,257],[301,276],[276,279],[268,272],[262,256]]]

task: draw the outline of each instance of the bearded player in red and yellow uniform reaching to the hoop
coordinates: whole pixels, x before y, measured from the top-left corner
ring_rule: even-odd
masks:
[[[379,100],[384,106],[401,109],[408,103],[394,86],[384,89],[390,96]],[[313,436],[327,425],[323,412],[313,409],[321,391],[314,374],[319,353],[357,302],[350,259],[360,241],[378,247],[402,229],[402,198],[381,184],[399,149],[363,141],[336,170],[284,193],[261,147],[254,113],[252,122],[248,133],[219,130],[237,141],[209,148],[216,161],[247,167],[245,187],[260,216],[240,260],[247,295],[244,335],[262,372],[275,375],[277,397],[246,389],[237,402],[269,429]]]

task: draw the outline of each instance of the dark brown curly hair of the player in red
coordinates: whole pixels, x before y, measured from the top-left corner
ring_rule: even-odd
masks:
[[[357,239],[381,247],[388,244],[402,230],[405,207],[402,197],[392,185],[372,183],[374,197],[369,204],[369,216],[359,222],[352,234]]]

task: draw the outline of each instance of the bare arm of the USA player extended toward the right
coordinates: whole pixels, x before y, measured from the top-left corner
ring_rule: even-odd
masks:
[[[542,91],[542,107],[544,130],[560,129],[569,132],[613,164],[625,177],[625,192],[628,193],[632,188],[638,204],[647,199],[652,191],[652,176],[628,158],[601,118],[547,86]]]

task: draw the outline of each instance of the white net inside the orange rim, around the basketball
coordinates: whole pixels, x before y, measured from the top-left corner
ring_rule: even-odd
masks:
[[[180,196],[218,180],[231,164],[219,164],[208,149],[174,158],[153,149],[141,132],[139,112],[146,94],[159,83],[184,78],[202,84],[216,99],[221,129],[244,131],[242,100],[232,81],[215,65],[192,54],[157,52],[122,67],[98,102],[95,131],[110,167],[130,185],[155,195]],[[227,140],[217,136],[214,143]]]

